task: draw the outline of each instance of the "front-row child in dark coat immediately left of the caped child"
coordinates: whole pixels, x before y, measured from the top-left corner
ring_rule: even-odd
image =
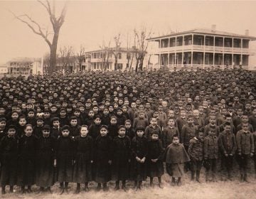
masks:
[[[146,156],[147,163],[147,176],[150,177],[150,186],[153,187],[153,178],[157,177],[159,181],[159,188],[163,188],[161,183],[161,176],[164,175],[164,164],[162,161],[164,149],[159,140],[159,135],[151,134],[151,140],[148,144],[148,155]]]

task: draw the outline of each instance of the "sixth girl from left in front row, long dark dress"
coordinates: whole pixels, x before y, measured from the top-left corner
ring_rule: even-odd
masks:
[[[103,190],[107,190],[107,182],[111,177],[112,164],[112,139],[108,135],[107,126],[100,127],[100,136],[95,141],[95,182],[97,189],[100,190],[103,184]]]

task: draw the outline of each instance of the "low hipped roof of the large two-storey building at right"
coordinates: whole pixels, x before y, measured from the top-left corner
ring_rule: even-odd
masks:
[[[229,37],[239,37],[239,38],[247,38],[250,40],[256,40],[256,37],[254,36],[245,36],[245,35],[240,35],[236,33],[228,33],[225,31],[213,31],[211,29],[206,29],[206,28],[196,28],[190,31],[182,31],[178,33],[171,33],[169,35],[165,36],[157,36],[154,38],[147,38],[146,40],[153,40],[153,39],[158,39],[158,38],[165,38],[165,37],[171,37],[171,36],[179,36],[183,34],[188,34],[188,33],[201,33],[201,34],[209,34],[209,35],[215,35],[215,36],[229,36]]]

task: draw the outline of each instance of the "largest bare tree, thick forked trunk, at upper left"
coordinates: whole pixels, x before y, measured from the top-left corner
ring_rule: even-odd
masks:
[[[23,14],[21,16],[16,16],[14,14],[15,18],[18,19],[18,21],[21,21],[25,23],[29,28],[31,28],[31,31],[33,33],[41,36],[44,41],[48,44],[50,48],[50,68],[49,68],[49,74],[51,75],[55,71],[56,67],[56,55],[57,55],[57,45],[58,45],[58,37],[60,33],[60,28],[63,26],[63,23],[65,21],[65,14],[66,14],[66,8],[67,8],[67,2],[63,6],[62,11],[60,12],[60,16],[55,15],[55,0],[52,1],[53,3],[50,4],[49,0],[46,1],[39,1],[38,3],[43,6],[50,18],[50,23],[53,26],[53,38],[50,41],[50,38],[48,36],[50,35],[50,31],[48,29],[44,30],[39,23],[37,23],[33,18],[28,16],[28,14]]]

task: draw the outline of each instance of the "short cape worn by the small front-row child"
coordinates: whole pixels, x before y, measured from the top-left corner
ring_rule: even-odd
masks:
[[[167,146],[164,159],[166,163],[185,163],[190,161],[190,158],[183,146],[183,144],[170,144]]]

